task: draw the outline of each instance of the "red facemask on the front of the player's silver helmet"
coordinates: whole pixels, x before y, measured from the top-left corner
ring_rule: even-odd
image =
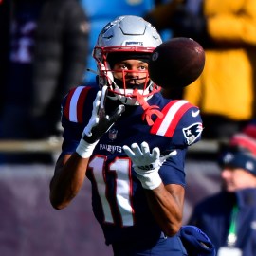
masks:
[[[116,54],[117,52],[115,51],[114,53],[115,58],[113,58],[113,53],[111,53],[111,51],[104,52],[104,50],[101,49],[101,57],[103,57],[101,59],[103,61],[98,64],[98,66],[101,67],[99,74],[100,86],[108,85],[109,98],[111,100],[119,100],[127,105],[139,105],[139,101],[137,101],[137,93],[142,95],[144,100],[147,101],[155,92],[160,90],[160,87],[150,80],[148,70],[134,71],[114,69],[116,63],[125,61],[126,59],[139,59],[141,62],[147,62],[146,59],[149,59],[150,56],[149,52],[121,51]],[[132,73],[136,73],[136,76],[133,76]],[[115,74],[119,74],[119,78],[115,77]],[[136,94],[135,89],[137,89]]]

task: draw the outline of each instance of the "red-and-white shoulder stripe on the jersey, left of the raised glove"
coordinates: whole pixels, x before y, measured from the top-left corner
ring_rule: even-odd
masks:
[[[82,123],[84,101],[91,87],[78,86],[69,91],[64,105],[64,116],[73,122]]]

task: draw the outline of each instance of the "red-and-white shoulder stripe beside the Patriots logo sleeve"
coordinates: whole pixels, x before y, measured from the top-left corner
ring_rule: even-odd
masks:
[[[185,100],[170,101],[162,110],[162,113],[164,114],[163,118],[157,118],[155,120],[155,123],[151,128],[151,134],[173,137],[179,120],[191,107],[194,106]]]

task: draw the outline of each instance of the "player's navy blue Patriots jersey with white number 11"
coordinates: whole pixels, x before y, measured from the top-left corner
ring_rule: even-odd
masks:
[[[66,96],[62,118],[63,154],[75,152],[91,117],[96,93],[96,88],[80,86]],[[177,155],[164,162],[159,174],[165,185],[185,186],[186,151],[201,137],[199,109],[188,101],[167,100],[157,93],[147,102],[158,106],[163,117],[153,115],[154,124],[150,126],[142,119],[144,110],[141,106],[126,105],[122,116],[101,137],[88,164],[86,175],[92,184],[93,211],[104,231],[106,244],[150,240],[161,233],[131,159],[125,155],[122,146],[131,146],[134,142],[140,145],[146,141],[151,150],[158,147],[161,155],[176,149]],[[106,113],[111,114],[117,104],[119,101],[107,101]]]

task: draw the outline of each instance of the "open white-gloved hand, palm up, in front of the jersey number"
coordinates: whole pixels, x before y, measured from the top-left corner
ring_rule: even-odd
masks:
[[[140,146],[141,150],[137,143],[132,144],[131,148],[124,145],[123,150],[131,158],[142,187],[147,190],[154,190],[162,182],[158,170],[167,158],[176,155],[177,152],[174,150],[169,155],[160,157],[159,148],[155,147],[150,153],[147,142],[142,142]]]

